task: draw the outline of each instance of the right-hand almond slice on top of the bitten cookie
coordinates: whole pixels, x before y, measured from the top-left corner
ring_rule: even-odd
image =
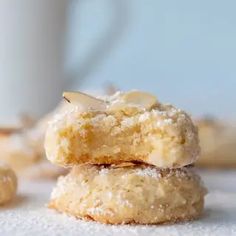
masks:
[[[151,108],[157,103],[157,98],[155,96],[141,91],[131,91],[125,93],[121,98],[127,104],[139,105],[146,109]]]

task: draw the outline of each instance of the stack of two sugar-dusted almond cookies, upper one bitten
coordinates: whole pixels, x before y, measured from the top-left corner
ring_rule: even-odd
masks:
[[[49,207],[110,224],[200,216],[205,188],[191,166],[198,135],[185,112],[138,91],[64,97],[74,109],[50,122],[45,148],[52,163],[72,169]]]

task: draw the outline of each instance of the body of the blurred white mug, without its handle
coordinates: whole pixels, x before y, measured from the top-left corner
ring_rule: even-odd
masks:
[[[15,124],[22,113],[38,118],[60,101],[69,82],[64,46],[70,3],[0,0],[1,126]]]

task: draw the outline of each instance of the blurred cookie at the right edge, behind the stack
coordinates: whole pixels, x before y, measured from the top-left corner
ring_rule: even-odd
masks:
[[[214,119],[197,122],[201,155],[197,166],[236,168],[236,128]]]

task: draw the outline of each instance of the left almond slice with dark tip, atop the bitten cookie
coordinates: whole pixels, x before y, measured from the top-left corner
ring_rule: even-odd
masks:
[[[85,110],[106,110],[105,101],[82,92],[64,92],[63,97],[72,105],[82,107]]]

